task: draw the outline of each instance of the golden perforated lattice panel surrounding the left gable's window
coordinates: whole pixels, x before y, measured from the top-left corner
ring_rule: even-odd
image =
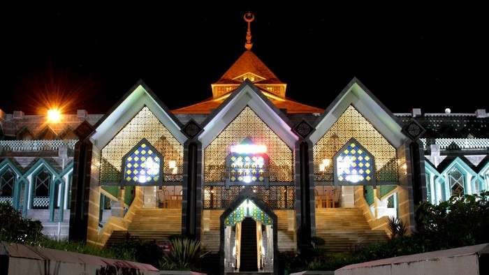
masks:
[[[143,107],[136,116],[103,147],[101,156],[101,183],[122,181],[122,158],[146,138],[163,156],[164,181],[182,181],[183,146],[158,118]]]

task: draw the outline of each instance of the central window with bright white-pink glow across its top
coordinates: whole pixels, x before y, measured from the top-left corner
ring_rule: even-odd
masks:
[[[266,152],[265,145],[255,144],[249,138],[231,146],[231,154],[226,158],[229,171],[226,184],[268,184]]]

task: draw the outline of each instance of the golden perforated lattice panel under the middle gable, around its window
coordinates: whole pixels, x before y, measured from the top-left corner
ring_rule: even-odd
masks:
[[[245,138],[267,147],[269,181],[293,181],[293,151],[249,107],[217,135],[204,150],[204,181],[225,182],[226,156]]]

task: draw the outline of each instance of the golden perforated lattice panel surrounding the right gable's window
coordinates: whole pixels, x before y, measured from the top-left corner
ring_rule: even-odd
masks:
[[[351,137],[374,156],[377,181],[397,181],[395,148],[352,105],[314,145],[314,180],[333,182],[333,156]]]

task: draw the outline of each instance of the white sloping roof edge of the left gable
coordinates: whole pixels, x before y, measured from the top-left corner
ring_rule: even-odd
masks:
[[[184,144],[187,137],[180,131],[182,124],[159,100],[159,98],[147,87],[143,81],[138,81],[126,95],[105,114],[94,126],[92,142],[99,149],[105,147],[138,112],[147,106],[159,119],[161,124],[180,142]]]

